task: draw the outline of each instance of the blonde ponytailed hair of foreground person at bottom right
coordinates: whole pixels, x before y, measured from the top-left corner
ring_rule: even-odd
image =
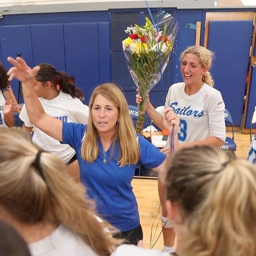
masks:
[[[256,166],[219,148],[182,148],[166,184],[188,229],[183,255],[256,255]]]

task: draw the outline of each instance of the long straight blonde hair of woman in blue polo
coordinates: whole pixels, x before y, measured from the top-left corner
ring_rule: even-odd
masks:
[[[92,106],[96,96],[100,94],[113,103],[119,110],[118,121],[116,124],[115,138],[113,140],[113,148],[119,146],[120,166],[125,164],[137,164],[139,161],[139,145],[136,139],[133,121],[129,114],[128,104],[120,88],[113,83],[101,84],[94,88],[89,102],[89,111],[92,112]],[[82,142],[81,155],[87,162],[94,162],[100,154],[98,140],[98,132],[92,123],[92,115],[89,115],[88,125],[84,141]]]

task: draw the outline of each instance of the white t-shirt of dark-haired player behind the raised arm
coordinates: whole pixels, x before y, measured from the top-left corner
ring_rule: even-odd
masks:
[[[46,100],[44,98],[39,98],[39,100],[48,115],[65,122],[88,123],[89,108],[82,104],[78,98],[72,98],[69,94],[59,92],[59,95],[52,100]],[[25,105],[22,107],[19,117],[26,127],[33,127],[33,143],[56,154],[65,163],[69,162],[75,155],[75,150],[71,146],[59,143],[59,141],[49,137],[46,133],[38,129],[38,127],[32,125],[28,118]]]

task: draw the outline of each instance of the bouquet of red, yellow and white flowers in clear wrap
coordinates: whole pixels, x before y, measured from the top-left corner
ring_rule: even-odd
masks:
[[[127,67],[143,98],[139,104],[137,133],[143,132],[146,94],[159,82],[166,68],[177,34],[177,21],[162,11],[156,24],[145,18],[144,26],[129,26],[129,36],[123,40],[123,53]]]

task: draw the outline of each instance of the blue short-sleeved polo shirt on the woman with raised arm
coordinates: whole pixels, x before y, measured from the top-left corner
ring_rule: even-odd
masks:
[[[97,212],[121,232],[137,228],[140,224],[138,205],[133,193],[131,181],[137,164],[119,166],[119,146],[115,146],[112,158],[112,146],[106,152],[100,139],[98,158],[88,163],[81,157],[81,146],[86,125],[63,123],[63,143],[75,148],[80,166],[80,180],[87,187],[88,196],[96,201]],[[146,139],[138,135],[140,159],[138,164],[145,168],[156,168],[164,162],[166,156]]]

